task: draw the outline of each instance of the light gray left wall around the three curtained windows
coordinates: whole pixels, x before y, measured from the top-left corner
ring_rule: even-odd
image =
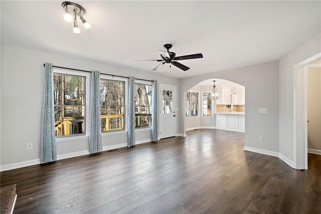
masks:
[[[44,78],[43,64],[45,62],[50,62],[53,65],[62,67],[81,70],[99,70],[102,73],[157,80],[158,87],[159,84],[176,85],[177,93],[181,93],[180,80],[176,78],[156,75],[154,73],[143,73],[94,61],[8,45],[2,45],[1,47],[1,62],[2,135],[0,165],[2,169],[4,165],[8,166],[8,164],[14,166],[15,164],[17,165],[17,163],[23,162],[30,165],[39,161],[40,120]],[[180,100],[178,100],[177,104],[180,106]],[[177,119],[180,120],[179,115]],[[178,126],[177,133],[180,133],[179,130],[181,129],[182,128]],[[149,139],[150,129],[137,131],[136,143],[146,142]],[[104,149],[126,146],[127,133],[119,132],[108,134],[103,136],[102,140]],[[32,150],[27,150],[28,143],[33,144]],[[58,158],[67,157],[69,153],[80,155],[86,151],[88,152],[88,136],[82,137],[81,139],[76,138],[76,140],[68,139],[57,143]]]

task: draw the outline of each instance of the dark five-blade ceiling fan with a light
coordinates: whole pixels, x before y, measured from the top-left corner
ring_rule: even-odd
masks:
[[[184,59],[197,59],[197,58],[203,58],[203,54],[191,54],[191,55],[185,55],[185,56],[176,56],[176,53],[170,52],[169,50],[173,47],[171,44],[165,44],[164,48],[167,49],[167,51],[159,51],[161,54],[162,59],[147,59],[147,60],[136,60],[135,62],[145,62],[145,61],[157,61],[161,62],[161,64],[157,65],[154,70],[157,70],[158,68],[162,67],[165,63],[171,63],[172,65],[175,65],[176,67],[187,71],[190,69],[189,67],[177,62],[177,60],[184,60]],[[170,65],[171,66],[171,65]]]

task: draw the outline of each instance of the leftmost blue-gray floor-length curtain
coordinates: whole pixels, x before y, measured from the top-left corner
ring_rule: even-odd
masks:
[[[54,112],[54,73],[51,63],[45,63],[40,138],[40,162],[44,163],[57,160]]]

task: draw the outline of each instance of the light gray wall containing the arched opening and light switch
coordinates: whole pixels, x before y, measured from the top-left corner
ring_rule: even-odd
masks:
[[[192,86],[210,78],[226,79],[245,86],[245,146],[277,154],[279,147],[278,61],[184,78],[181,79],[181,91],[187,91]],[[180,97],[181,103],[184,103],[183,92]],[[268,114],[259,114],[259,108],[267,108]],[[181,133],[186,127],[184,114],[181,114],[180,119],[180,123],[184,124],[181,127]],[[264,137],[264,141],[258,140],[260,135]]]

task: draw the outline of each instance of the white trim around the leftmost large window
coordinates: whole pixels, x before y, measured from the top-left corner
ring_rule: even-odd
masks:
[[[56,137],[56,142],[63,142],[63,141],[67,141],[64,139],[68,139],[68,140],[77,140],[77,139],[82,139],[82,138],[88,138],[89,136],[89,109],[90,109],[90,88],[91,88],[91,75],[89,72],[82,72],[82,71],[76,71],[76,70],[65,70],[65,69],[60,69],[60,68],[55,68],[53,67],[53,73],[57,73],[57,74],[68,74],[68,75],[76,75],[76,76],[84,76],[86,77],[86,81],[85,81],[85,108],[86,108],[86,112],[85,112],[85,133],[84,135],[80,135],[80,136],[70,136],[70,135],[66,135],[66,136],[59,136],[59,138]],[[74,138],[74,139],[73,139]],[[76,139],[77,138],[77,139]]]

